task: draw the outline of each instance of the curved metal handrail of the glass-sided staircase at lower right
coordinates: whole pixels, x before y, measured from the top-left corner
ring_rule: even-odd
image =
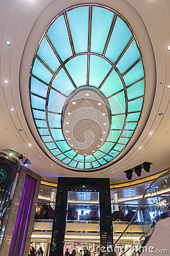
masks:
[[[149,187],[145,189],[145,192],[143,193],[142,199],[141,199],[141,201],[140,201],[140,203],[139,203],[139,205],[138,205],[138,208],[137,208],[137,210],[136,210],[134,216],[131,218],[129,224],[126,226],[126,228],[125,228],[124,231],[121,233],[121,235],[117,238],[116,242],[113,243],[113,246],[112,246],[113,248],[114,248],[114,246],[116,245],[116,243],[120,240],[120,238],[125,234],[126,230],[127,230],[127,229],[129,228],[129,226],[131,225],[131,222],[133,222],[135,216],[136,216],[137,213],[138,213],[138,210],[141,208],[141,205],[142,205],[142,203],[143,203],[143,200],[145,199],[145,195],[146,195],[147,190],[148,190],[148,189],[151,189],[152,184],[154,184],[156,180],[160,179],[161,177],[167,176],[169,173],[170,173],[170,168],[168,169],[167,172],[165,172],[165,174],[162,174],[162,175],[156,177],[154,180],[152,180],[152,182],[151,182],[151,184],[149,185]],[[103,256],[105,256],[105,255],[107,255],[107,253],[105,253]]]

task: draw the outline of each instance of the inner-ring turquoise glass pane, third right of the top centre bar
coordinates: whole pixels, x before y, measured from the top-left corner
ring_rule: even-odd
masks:
[[[111,114],[122,114],[126,112],[125,92],[120,92],[108,99],[111,106]]]

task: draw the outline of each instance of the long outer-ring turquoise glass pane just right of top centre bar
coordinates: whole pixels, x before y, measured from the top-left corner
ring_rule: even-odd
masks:
[[[114,14],[100,7],[92,7],[91,52],[102,54]]]

